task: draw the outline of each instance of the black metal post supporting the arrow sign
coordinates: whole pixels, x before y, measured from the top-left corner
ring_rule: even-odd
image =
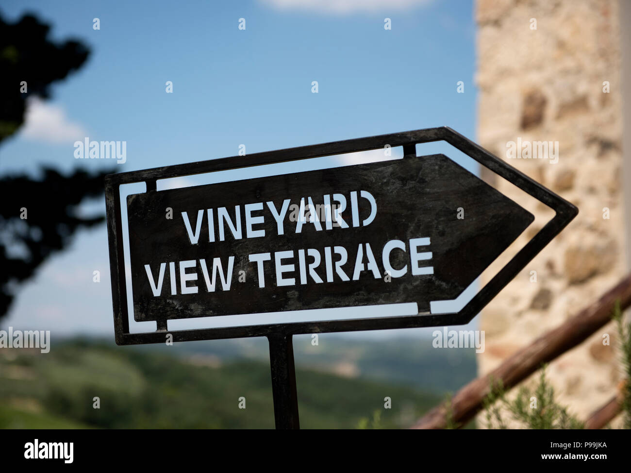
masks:
[[[300,429],[292,335],[270,335],[268,340],[276,428]]]

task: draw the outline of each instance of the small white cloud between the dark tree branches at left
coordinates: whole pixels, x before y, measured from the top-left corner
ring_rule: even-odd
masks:
[[[21,135],[28,140],[45,143],[73,143],[87,136],[80,124],[71,123],[64,109],[50,105],[37,97],[27,102],[24,126]]]

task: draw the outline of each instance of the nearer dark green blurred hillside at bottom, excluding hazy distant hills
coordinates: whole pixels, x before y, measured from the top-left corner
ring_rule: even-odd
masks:
[[[3,349],[0,428],[273,428],[269,362],[162,351],[85,340],[48,354]],[[380,426],[401,428],[442,397],[312,369],[298,368],[297,381],[302,428],[357,428],[375,411]]]

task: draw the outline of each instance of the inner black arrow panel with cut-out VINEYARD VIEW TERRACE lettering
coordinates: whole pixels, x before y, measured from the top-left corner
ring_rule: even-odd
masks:
[[[167,218],[165,209],[172,209]],[[455,299],[534,217],[444,155],[127,198],[138,321]]]

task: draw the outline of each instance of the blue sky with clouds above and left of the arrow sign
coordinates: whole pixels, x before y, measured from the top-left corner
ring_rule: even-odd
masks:
[[[475,139],[472,8],[464,0],[0,1],[5,20],[32,11],[54,39],[76,37],[92,51],[52,87],[52,100],[32,104],[23,130],[0,147],[0,174],[114,165],[75,160],[73,143],[85,136],[127,142],[117,171],[237,155],[240,144],[255,153],[440,125]],[[86,211],[104,208],[98,200]],[[51,324],[63,334],[112,334],[105,225],[42,266],[3,321]],[[389,335],[401,332],[379,334]]]

